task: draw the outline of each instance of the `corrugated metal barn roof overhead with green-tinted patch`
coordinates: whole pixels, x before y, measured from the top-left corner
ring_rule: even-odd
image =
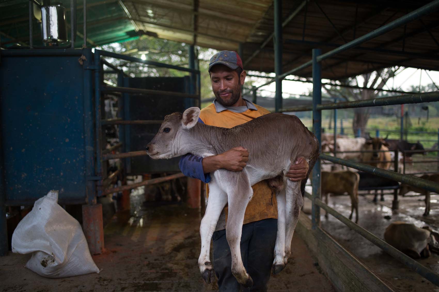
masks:
[[[68,0],[62,0],[69,7]],[[78,30],[83,31],[82,1],[78,4]],[[282,2],[282,18],[291,18],[283,29],[283,70],[311,58],[311,49],[323,52],[360,37],[429,1],[321,0]],[[0,0],[2,42],[29,40],[27,0]],[[306,4],[306,5],[305,5]],[[302,8],[298,8],[303,6]],[[126,7],[126,10],[124,10]],[[68,10],[68,9],[67,9]],[[69,12],[67,13],[69,19]],[[291,17],[293,16],[293,17]],[[341,79],[392,65],[439,68],[439,12],[377,37],[360,47],[323,62],[322,76]],[[40,39],[34,23],[34,39]],[[238,50],[242,44],[246,69],[274,71],[272,0],[88,0],[87,37],[102,45],[147,34],[194,43],[219,50]],[[76,47],[82,46],[78,36]],[[261,44],[266,43],[261,48]],[[255,54],[256,53],[256,54]],[[250,57],[255,54],[254,58]],[[311,68],[296,72],[311,76]]]

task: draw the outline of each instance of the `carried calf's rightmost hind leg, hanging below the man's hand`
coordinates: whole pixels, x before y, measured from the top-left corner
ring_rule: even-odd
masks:
[[[291,240],[294,230],[299,220],[300,209],[303,206],[302,193],[300,191],[300,181],[287,180],[286,186],[286,208],[285,208],[285,257],[284,263],[288,263],[291,255]]]

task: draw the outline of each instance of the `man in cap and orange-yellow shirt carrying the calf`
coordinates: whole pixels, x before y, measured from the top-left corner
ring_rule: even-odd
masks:
[[[246,72],[242,61],[234,51],[223,50],[215,54],[209,63],[209,74],[215,101],[201,110],[199,123],[232,128],[261,115],[270,113],[259,105],[242,98]],[[210,181],[210,173],[221,168],[241,171],[248,161],[247,149],[232,148],[224,153],[205,157],[191,154],[180,159],[180,169],[188,177]],[[308,163],[298,158],[292,164],[287,177],[293,181],[303,180],[308,172]],[[253,198],[245,210],[242,226],[241,256],[244,266],[253,279],[253,286],[245,291],[266,291],[274,260],[274,244],[277,234],[276,195],[266,180],[254,186]],[[209,191],[209,189],[208,189]],[[231,271],[230,247],[226,238],[227,206],[219,217],[213,233],[213,269],[218,278],[219,291],[240,291],[241,285]]]

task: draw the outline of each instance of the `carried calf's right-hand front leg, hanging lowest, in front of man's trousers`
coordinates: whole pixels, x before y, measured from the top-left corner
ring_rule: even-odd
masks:
[[[241,172],[224,173],[224,189],[227,191],[229,214],[227,218],[226,237],[232,254],[232,274],[239,284],[252,287],[253,280],[245,270],[241,258],[241,234],[244,213],[248,202],[252,199],[253,190],[250,186],[248,174]]]

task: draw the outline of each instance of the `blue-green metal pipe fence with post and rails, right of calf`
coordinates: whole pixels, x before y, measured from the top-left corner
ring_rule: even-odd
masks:
[[[298,111],[313,111],[313,132],[319,142],[321,142],[321,111],[327,109],[338,109],[338,108],[360,108],[360,107],[373,107],[373,106],[384,106],[384,105],[402,105],[402,104],[413,104],[413,103],[421,103],[421,102],[433,102],[439,101],[439,92],[428,92],[428,93],[419,93],[419,94],[407,94],[407,95],[399,95],[392,97],[383,97],[376,98],[373,100],[361,100],[361,101],[347,101],[347,102],[339,102],[339,103],[331,103],[331,104],[322,104],[321,99],[321,62],[335,54],[341,53],[349,48],[360,45],[361,43],[367,42],[368,40],[372,40],[377,36],[381,36],[387,32],[392,31],[393,29],[405,25],[412,20],[416,20],[421,18],[422,16],[435,11],[439,8],[439,0],[435,0],[430,2],[429,4],[410,12],[409,14],[404,15],[401,18],[396,19],[393,22],[390,22],[387,25],[381,26],[380,28],[374,30],[373,32],[367,33],[356,40],[353,40],[349,43],[345,43],[344,45],[328,51],[325,54],[321,54],[320,49],[313,49],[313,57],[312,60],[309,60],[305,64],[302,64],[296,68],[291,69],[284,74],[277,75],[275,78],[271,79],[269,82],[261,85],[263,87],[272,82],[279,82],[279,80],[284,79],[286,76],[298,72],[304,68],[307,68],[312,65],[313,67],[313,106],[299,107],[299,108],[282,108],[279,109],[279,112],[298,112]],[[260,87],[254,89],[254,93]],[[335,129],[336,133],[336,129]],[[336,135],[334,135],[336,138]],[[379,169],[373,166],[368,166],[362,163],[353,162],[346,159],[340,159],[337,157],[333,157],[330,155],[320,154],[320,159],[324,159],[327,161],[331,161],[337,164],[341,164],[344,166],[348,166],[354,169],[362,170],[367,173],[373,173],[380,177],[389,178],[392,180],[396,180],[405,184],[409,184],[411,186],[421,187],[429,191],[438,192],[439,184],[433,183],[428,180],[422,180],[417,177],[408,176],[401,173],[396,173],[393,171]],[[432,270],[424,267],[417,261],[411,259],[409,256],[395,249],[388,243],[384,242],[374,234],[371,234],[369,231],[364,228],[358,226],[353,223],[342,214],[338,213],[324,202],[320,200],[320,191],[321,191],[321,166],[320,159],[317,160],[313,169],[313,194],[309,198],[312,200],[312,229],[316,230],[319,227],[320,223],[320,208],[326,210],[332,216],[335,216],[338,220],[342,221],[342,223],[346,224],[348,227],[361,234],[364,238],[372,242],[374,245],[377,245],[379,248],[387,252],[389,255],[393,256],[396,260],[399,260],[401,263],[405,264],[407,267],[410,267],[415,272],[420,274],[422,277],[426,278],[428,281],[432,282],[434,285],[439,286],[439,275],[433,272]]]

